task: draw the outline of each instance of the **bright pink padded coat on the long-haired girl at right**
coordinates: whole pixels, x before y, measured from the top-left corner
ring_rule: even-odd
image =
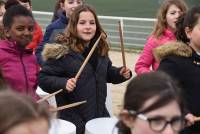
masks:
[[[163,45],[167,41],[171,40],[176,40],[176,37],[174,33],[169,29],[166,29],[159,39],[156,39],[151,35],[147,39],[147,43],[145,44],[144,49],[135,64],[136,74],[150,72],[150,67],[152,67],[153,70],[156,70],[159,63],[155,61],[152,51],[154,48]]]

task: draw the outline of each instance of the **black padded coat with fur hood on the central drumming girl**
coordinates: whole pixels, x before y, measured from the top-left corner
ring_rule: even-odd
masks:
[[[49,60],[40,72],[39,86],[48,93],[64,89],[62,93],[56,95],[58,106],[87,101],[81,106],[62,110],[59,113],[61,119],[74,123],[77,127],[77,133],[82,134],[87,121],[109,116],[105,106],[107,82],[117,84],[126,79],[119,74],[121,68],[113,67],[107,56],[98,56],[96,70],[90,63],[86,64],[76,83],[76,88],[73,92],[68,93],[66,90],[67,80],[75,77],[85,58],[82,54],[68,51],[67,48],[63,49],[61,45],[48,46],[45,48],[46,56],[44,57]],[[59,50],[56,48],[57,46],[60,47]],[[55,59],[57,56],[61,58]]]

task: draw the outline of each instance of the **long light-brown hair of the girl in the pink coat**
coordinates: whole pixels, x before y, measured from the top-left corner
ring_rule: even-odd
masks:
[[[166,14],[171,5],[176,5],[183,13],[187,11],[187,5],[184,0],[164,0],[157,13],[157,22],[155,23],[153,36],[159,38],[167,28]]]

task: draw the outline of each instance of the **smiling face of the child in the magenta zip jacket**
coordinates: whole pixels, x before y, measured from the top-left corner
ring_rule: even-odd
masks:
[[[34,20],[29,16],[16,16],[10,28],[5,28],[6,36],[21,47],[26,47],[31,41],[34,32]]]

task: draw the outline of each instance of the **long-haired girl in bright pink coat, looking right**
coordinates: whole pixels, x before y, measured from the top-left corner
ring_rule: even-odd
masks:
[[[179,16],[187,10],[183,0],[165,0],[157,15],[157,22],[152,34],[148,37],[138,61],[135,64],[136,74],[150,72],[158,68],[153,49],[167,41],[175,40],[176,22]]]

